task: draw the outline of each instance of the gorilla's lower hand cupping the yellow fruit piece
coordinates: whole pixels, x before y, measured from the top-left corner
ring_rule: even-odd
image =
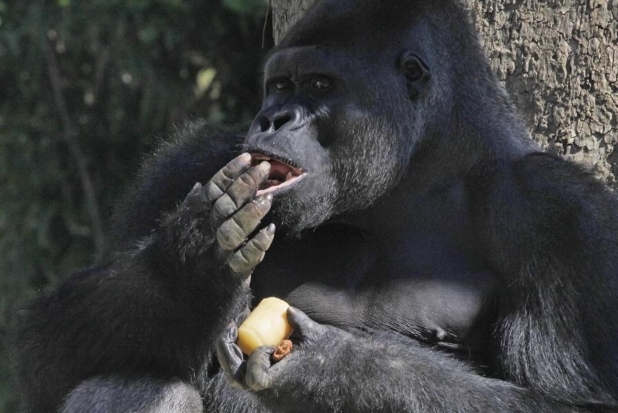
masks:
[[[324,326],[310,319],[298,308],[290,307],[287,310],[287,319],[294,327],[294,348],[287,356],[277,363],[270,361],[274,352],[272,346],[256,348],[250,357],[243,359],[243,353],[236,344],[238,339],[238,325],[248,315],[241,315],[230,323],[223,336],[217,341],[217,358],[225,377],[236,387],[247,390],[266,390],[273,387],[281,389],[284,394],[286,388],[296,388],[294,384],[298,372],[306,371],[299,369],[306,363],[324,363],[327,359],[329,348],[335,342],[353,339],[353,336],[344,330],[332,326]],[[311,370],[315,371],[315,368]]]

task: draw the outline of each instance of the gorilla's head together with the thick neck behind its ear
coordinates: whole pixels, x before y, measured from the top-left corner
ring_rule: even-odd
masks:
[[[461,173],[483,153],[466,131],[483,127],[489,107],[512,111],[461,12],[446,1],[326,0],[296,23],[265,64],[263,109],[245,140],[255,162],[272,164],[265,190],[278,221],[316,226],[421,169]]]

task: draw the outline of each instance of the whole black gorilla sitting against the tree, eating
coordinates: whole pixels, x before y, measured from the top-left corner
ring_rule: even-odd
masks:
[[[618,200],[533,147],[469,20],[314,7],[246,138],[162,145],[107,261],[25,311],[28,411],[616,411]],[[273,366],[250,294],[295,307]]]

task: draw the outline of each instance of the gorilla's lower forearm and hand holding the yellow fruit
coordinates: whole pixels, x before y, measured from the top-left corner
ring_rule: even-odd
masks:
[[[351,335],[317,324],[295,308],[288,318],[301,337],[300,346],[275,364],[269,361],[273,348],[258,348],[243,366],[244,381],[236,382],[256,391],[278,412],[568,410],[528,389],[481,377],[448,354],[392,332]],[[227,337],[219,341],[217,355],[229,379],[242,377],[234,369],[239,360],[230,350],[234,332]]]

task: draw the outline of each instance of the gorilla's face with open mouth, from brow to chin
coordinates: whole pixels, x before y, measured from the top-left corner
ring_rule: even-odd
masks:
[[[286,45],[265,65],[263,109],[245,140],[271,164],[258,194],[292,232],[368,207],[401,179],[419,122],[420,67],[409,52]],[[410,76],[412,74],[412,76]]]

